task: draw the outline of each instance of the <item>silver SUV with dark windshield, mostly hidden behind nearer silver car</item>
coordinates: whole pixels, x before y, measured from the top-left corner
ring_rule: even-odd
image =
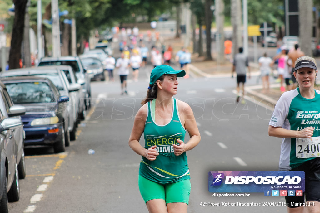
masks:
[[[84,88],[86,89],[85,97],[85,106],[86,110],[90,107],[90,98],[91,98],[91,85],[90,85],[90,76],[84,69],[81,60],[78,56],[63,56],[63,57],[44,57],[40,59],[38,66],[45,65],[69,65],[72,66],[76,72],[78,79],[81,79],[84,83]]]

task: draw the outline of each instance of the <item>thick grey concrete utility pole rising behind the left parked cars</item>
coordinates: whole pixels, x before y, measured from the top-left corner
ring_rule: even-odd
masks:
[[[51,0],[52,14],[52,56],[61,56],[60,46],[60,20],[59,20],[59,4],[58,0]]]

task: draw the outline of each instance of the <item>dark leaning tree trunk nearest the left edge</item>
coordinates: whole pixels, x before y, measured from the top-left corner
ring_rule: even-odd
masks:
[[[21,44],[24,33],[24,19],[28,0],[13,0],[14,23],[12,27],[11,47],[9,52],[9,69],[20,68]]]

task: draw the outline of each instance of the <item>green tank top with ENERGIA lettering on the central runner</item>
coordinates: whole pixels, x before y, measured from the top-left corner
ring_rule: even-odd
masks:
[[[159,155],[150,161],[144,156],[140,162],[139,174],[157,183],[174,183],[183,179],[190,179],[186,153],[175,156],[172,144],[177,139],[184,141],[186,130],[181,124],[177,101],[172,98],[172,118],[168,124],[157,125],[155,122],[155,102],[149,101],[148,116],[144,128],[145,148],[156,145]]]

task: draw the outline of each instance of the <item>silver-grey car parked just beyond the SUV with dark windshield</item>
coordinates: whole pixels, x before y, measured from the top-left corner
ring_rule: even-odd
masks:
[[[91,75],[91,80],[106,80],[104,75],[104,66],[99,58],[91,57],[90,55],[83,55],[80,57],[80,59],[87,73]]]

